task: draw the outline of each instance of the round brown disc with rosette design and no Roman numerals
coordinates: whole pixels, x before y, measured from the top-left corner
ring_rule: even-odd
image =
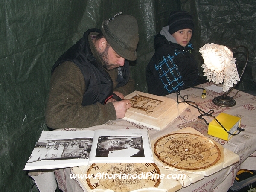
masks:
[[[160,137],[154,143],[157,158],[168,166],[177,169],[205,169],[218,163],[221,151],[206,137],[174,133]]]

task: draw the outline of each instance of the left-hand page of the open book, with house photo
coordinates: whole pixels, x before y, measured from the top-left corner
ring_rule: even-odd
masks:
[[[88,165],[94,131],[43,131],[24,170]]]

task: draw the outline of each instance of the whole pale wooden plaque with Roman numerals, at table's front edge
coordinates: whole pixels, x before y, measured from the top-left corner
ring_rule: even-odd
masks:
[[[94,176],[87,179],[77,179],[82,188],[85,188],[88,192],[104,191],[104,189],[112,192],[154,192],[159,189],[175,192],[182,188],[180,182],[177,180],[173,180],[172,178],[157,178],[155,175],[163,174],[167,176],[169,173],[154,163],[93,163],[91,166],[73,167],[71,172]],[[143,175],[152,173],[153,177],[144,178],[143,175],[140,176],[142,173]],[[97,174],[104,175],[104,178],[96,177]],[[139,177],[125,178],[120,176],[108,178],[114,174],[123,174],[123,176],[131,174],[134,176],[139,175]]]

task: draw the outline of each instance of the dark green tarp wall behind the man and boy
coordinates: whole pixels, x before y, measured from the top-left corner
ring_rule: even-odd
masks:
[[[0,191],[30,191],[32,179],[23,168],[41,131],[47,129],[44,110],[50,70],[57,58],[87,29],[99,28],[103,20],[117,12],[133,15],[139,24],[140,41],[131,74],[136,90],[147,92],[145,67],[154,54],[154,35],[167,24],[171,11],[181,9],[195,19],[192,43],[199,65],[197,49],[206,43],[247,46],[250,70],[246,82],[254,84],[255,0],[1,1]]]

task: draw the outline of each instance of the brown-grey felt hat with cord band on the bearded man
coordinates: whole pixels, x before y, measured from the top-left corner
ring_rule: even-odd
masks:
[[[134,61],[139,42],[137,20],[131,15],[116,14],[102,22],[102,33],[110,46],[121,57]]]

